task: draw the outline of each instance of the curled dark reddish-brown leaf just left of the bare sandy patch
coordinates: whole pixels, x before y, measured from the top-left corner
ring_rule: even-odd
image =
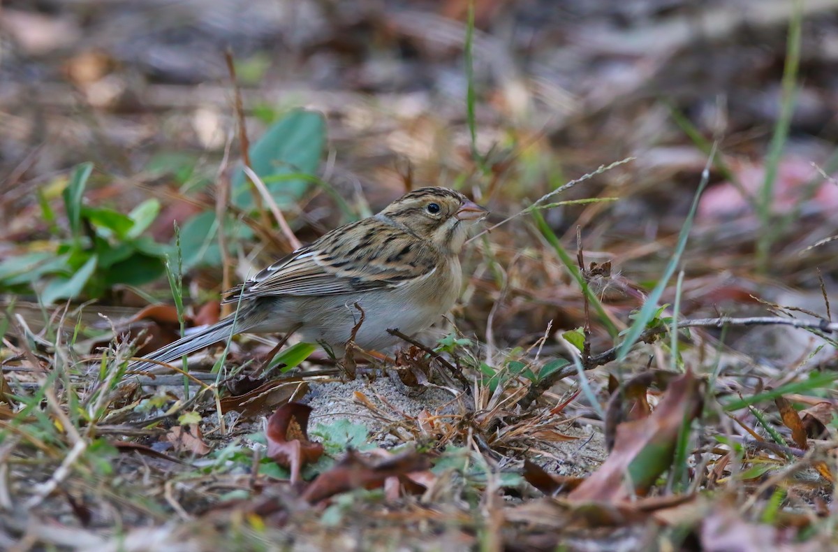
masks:
[[[300,478],[303,464],[317,461],[323,456],[323,445],[308,440],[308,417],[312,408],[308,404],[283,404],[267,420],[267,456],[280,466],[291,469],[291,482]]]

